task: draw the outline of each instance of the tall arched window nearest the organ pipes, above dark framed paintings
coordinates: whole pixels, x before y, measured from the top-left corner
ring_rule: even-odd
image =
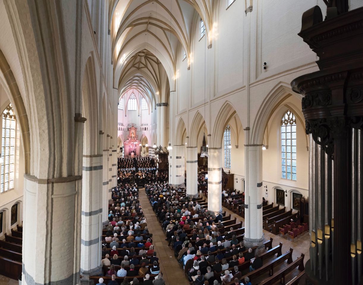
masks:
[[[296,121],[290,110],[281,119],[281,177],[296,180]]]

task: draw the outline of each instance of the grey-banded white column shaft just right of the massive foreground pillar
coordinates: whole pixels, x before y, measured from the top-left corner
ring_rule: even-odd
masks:
[[[89,276],[102,272],[102,172],[102,154],[83,156],[81,284],[90,284]]]

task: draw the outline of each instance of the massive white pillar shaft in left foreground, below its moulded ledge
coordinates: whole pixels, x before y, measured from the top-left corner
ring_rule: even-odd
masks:
[[[23,284],[79,283],[81,175],[24,175]]]

